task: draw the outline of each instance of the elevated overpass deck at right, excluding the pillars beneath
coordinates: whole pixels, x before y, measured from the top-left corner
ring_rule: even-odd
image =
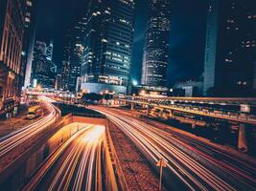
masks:
[[[137,104],[146,106],[148,109],[161,108],[171,113],[178,111],[256,125],[256,115],[251,112],[256,108],[256,98],[115,96],[114,99],[121,105],[130,104],[132,109]],[[228,110],[228,106],[232,110]]]

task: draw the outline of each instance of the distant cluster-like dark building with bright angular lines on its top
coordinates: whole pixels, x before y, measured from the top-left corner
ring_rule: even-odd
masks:
[[[32,64],[32,81],[35,88],[55,88],[55,73],[52,71],[53,61],[47,53],[48,47],[45,42],[35,41],[34,59]]]

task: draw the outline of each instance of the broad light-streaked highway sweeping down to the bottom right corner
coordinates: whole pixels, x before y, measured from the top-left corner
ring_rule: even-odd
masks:
[[[152,165],[165,159],[165,180],[174,181],[170,179],[175,176],[184,186],[182,189],[255,190],[255,161],[233,156],[196,138],[163,131],[121,110],[93,109],[112,120]],[[172,189],[180,190],[180,186]]]

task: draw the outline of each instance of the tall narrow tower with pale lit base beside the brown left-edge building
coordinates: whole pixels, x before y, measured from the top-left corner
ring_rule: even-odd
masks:
[[[35,5],[36,0],[26,0],[27,9],[25,13],[25,32],[23,36],[21,64],[21,75],[24,76],[24,88],[31,85],[31,70],[35,44]]]

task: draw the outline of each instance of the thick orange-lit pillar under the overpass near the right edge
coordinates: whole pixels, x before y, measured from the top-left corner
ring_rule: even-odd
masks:
[[[238,149],[244,153],[248,152],[248,145],[246,139],[246,126],[244,123],[239,124],[239,134],[238,134]]]

